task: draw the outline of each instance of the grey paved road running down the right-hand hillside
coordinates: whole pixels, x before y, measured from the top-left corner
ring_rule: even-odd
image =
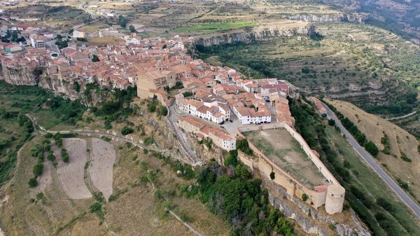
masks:
[[[346,135],[347,141],[349,141],[351,146],[353,146],[353,148],[358,152],[360,157],[363,158],[365,162],[367,162],[367,165],[369,165],[374,170],[374,172],[376,172],[379,175],[379,177],[381,177],[381,179],[385,181],[386,184],[388,184],[389,188],[391,188],[391,190],[393,190],[393,192],[396,195],[398,195],[398,198],[400,198],[400,200],[404,202],[407,205],[407,207],[409,207],[409,209],[412,209],[414,214],[418,218],[420,218],[419,204],[412,200],[412,198],[407,193],[405,193],[405,190],[403,190],[400,187],[400,185],[397,182],[395,182],[395,180],[393,180],[392,177],[384,171],[384,169],[382,169],[382,167],[376,162],[376,160],[374,160],[372,155],[367,153],[367,151],[365,151],[365,149],[358,144],[358,142],[353,138],[353,136],[351,136],[351,134],[344,128],[342,123],[339,122],[338,118],[331,111],[331,109],[325,104],[323,104],[323,106],[327,110],[328,118],[332,118],[333,120],[335,120],[335,124],[337,124],[341,132]]]

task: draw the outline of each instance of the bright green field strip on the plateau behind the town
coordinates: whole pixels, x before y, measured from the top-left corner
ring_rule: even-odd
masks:
[[[211,34],[223,30],[241,29],[244,27],[253,27],[256,25],[255,21],[245,22],[229,22],[229,23],[189,23],[185,27],[174,29],[174,32],[201,32],[204,34]]]

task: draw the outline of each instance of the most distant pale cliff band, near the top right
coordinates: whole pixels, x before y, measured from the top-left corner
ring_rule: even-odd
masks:
[[[289,20],[302,20],[304,22],[319,22],[319,23],[338,23],[338,22],[352,22],[363,24],[369,18],[368,15],[360,14],[328,14],[328,15],[314,15],[314,14],[299,14],[285,16]]]

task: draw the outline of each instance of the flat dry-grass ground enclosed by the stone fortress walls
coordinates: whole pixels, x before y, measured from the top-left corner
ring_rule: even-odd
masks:
[[[300,144],[284,129],[244,132],[262,153],[308,188],[328,183]]]

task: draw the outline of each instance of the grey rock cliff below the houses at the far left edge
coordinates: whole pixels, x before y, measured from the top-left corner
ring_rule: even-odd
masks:
[[[36,85],[39,80],[33,67],[9,67],[1,62],[0,69],[2,79],[13,85]]]

